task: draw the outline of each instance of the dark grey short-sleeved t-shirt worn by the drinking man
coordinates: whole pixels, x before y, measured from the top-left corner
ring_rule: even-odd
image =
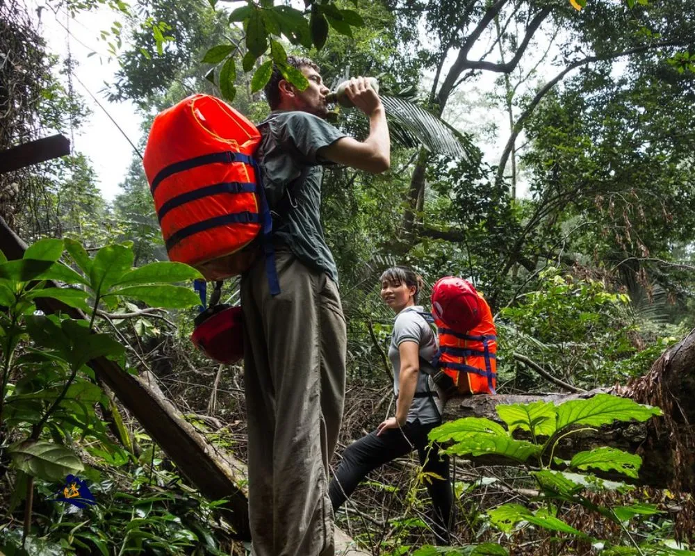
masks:
[[[335,282],[338,269],[320,220],[323,165],[318,149],[345,137],[331,124],[306,112],[273,111],[259,124],[261,144],[256,157],[263,171],[263,185],[270,209],[278,208],[286,190],[293,206],[283,202],[273,220],[273,238],[283,243],[310,268],[326,272]]]

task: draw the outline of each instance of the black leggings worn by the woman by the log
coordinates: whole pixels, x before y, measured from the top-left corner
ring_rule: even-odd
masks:
[[[449,528],[452,521],[454,497],[449,480],[449,457],[439,454],[439,445],[434,443],[429,448],[427,433],[441,423],[421,425],[418,420],[407,423],[399,429],[388,429],[381,436],[376,431],[370,432],[350,444],[343,452],[343,461],[334,474],[328,493],[333,504],[333,511],[343,505],[357,488],[367,473],[389,461],[409,454],[413,446],[418,449],[420,465],[423,471],[435,473],[443,480],[428,477],[425,484],[430,491],[434,506],[434,526],[437,544],[449,544]],[[407,437],[408,441],[404,438]],[[411,445],[412,444],[412,445]]]

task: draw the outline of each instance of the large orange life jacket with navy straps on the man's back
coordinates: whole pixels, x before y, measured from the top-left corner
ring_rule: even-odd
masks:
[[[257,250],[245,247],[270,231],[252,158],[260,140],[254,124],[210,95],[183,99],[152,124],[143,165],[167,253],[207,280],[246,270]]]

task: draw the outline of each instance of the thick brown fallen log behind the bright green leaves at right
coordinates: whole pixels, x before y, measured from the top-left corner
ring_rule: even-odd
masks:
[[[636,402],[655,405],[664,411],[663,417],[646,423],[616,422],[594,431],[573,434],[559,443],[556,455],[570,459],[571,455],[598,446],[611,446],[642,458],[637,484],[695,492],[695,330],[655,361],[649,373],[633,379],[627,386],[596,389],[586,393],[548,395],[475,395],[448,400],[445,420],[462,417],[498,417],[498,404],[528,404],[543,400],[560,404],[569,400],[589,398],[597,393],[612,393]],[[466,456],[474,465],[518,465],[497,456]],[[623,475],[596,473],[614,480],[626,480]]]

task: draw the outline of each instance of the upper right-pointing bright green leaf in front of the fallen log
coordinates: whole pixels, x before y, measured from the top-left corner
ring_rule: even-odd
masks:
[[[619,398],[615,395],[597,394],[588,400],[571,400],[560,404],[557,407],[557,430],[571,425],[600,427],[615,420],[646,421],[661,414],[662,411],[658,407],[641,405],[629,398]]]

